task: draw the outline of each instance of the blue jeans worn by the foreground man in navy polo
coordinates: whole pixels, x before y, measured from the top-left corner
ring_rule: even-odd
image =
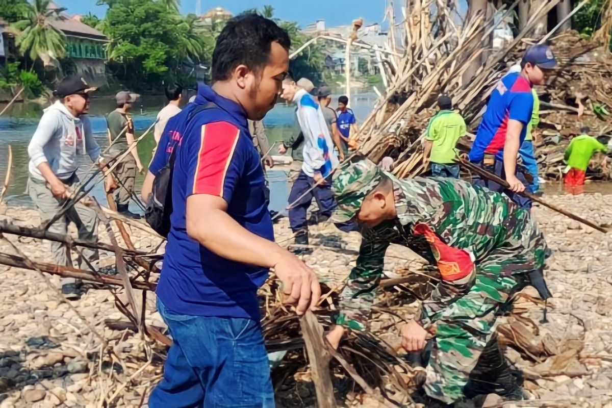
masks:
[[[157,310],[173,344],[149,407],[274,407],[258,321],[174,314],[159,299]]]

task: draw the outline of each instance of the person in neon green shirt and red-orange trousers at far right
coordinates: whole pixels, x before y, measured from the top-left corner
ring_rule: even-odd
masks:
[[[597,139],[589,136],[591,131],[588,127],[580,129],[582,133],[572,139],[567,149],[565,149],[565,163],[569,171],[565,173],[563,182],[565,185],[577,186],[584,184],[586,176],[586,168],[589,166],[589,161],[595,152],[607,152],[608,148],[605,144],[599,143]]]

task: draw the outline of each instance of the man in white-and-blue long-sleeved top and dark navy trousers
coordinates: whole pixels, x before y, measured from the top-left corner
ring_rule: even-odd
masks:
[[[335,207],[331,174],[339,162],[323,110],[315,98],[291,78],[283,82],[282,98],[297,105],[297,121],[304,135],[304,162],[289,193],[289,204],[293,204],[289,209],[289,226],[296,234],[296,244],[308,245],[308,207],[315,198],[319,205],[319,215],[329,218]],[[316,187],[307,193],[315,184]],[[296,248],[296,252],[302,250]]]

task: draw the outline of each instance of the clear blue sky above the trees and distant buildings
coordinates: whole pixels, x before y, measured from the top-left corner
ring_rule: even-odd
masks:
[[[106,7],[96,6],[96,0],[54,2],[66,7],[70,15],[91,12],[103,17],[106,13]],[[185,14],[195,13],[195,4],[196,0],[181,0],[181,11]],[[381,22],[386,0],[200,0],[200,4],[203,12],[212,7],[222,6],[234,14],[269,4],[275,9],[275,17],[297,21],[300,26],[305,27],[318,19],[324,19],[328,26],[350,24],[357,17],[363,17],[366,23]]]

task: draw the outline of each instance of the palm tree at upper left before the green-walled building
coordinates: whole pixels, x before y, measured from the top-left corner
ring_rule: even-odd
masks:
[[[29,53],[32,61],[36,59],[59,59],[65,56],[66,36],[54,28],[50,20],[59,16],[65,9],[49,9],[50,0],[32,0],[24,20],[17,21],[20,30],[17,42],[21,55]]]

